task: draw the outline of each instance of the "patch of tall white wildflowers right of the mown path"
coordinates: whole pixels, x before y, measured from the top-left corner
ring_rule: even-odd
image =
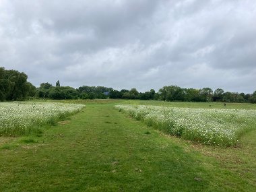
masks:
[[[256,128],[256,110],[117,105],[120,111],[170,135],[207,145],[234,146]]]

